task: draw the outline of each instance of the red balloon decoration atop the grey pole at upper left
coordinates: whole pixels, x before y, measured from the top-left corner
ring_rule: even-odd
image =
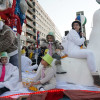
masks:
[[[20,23],[20,19],[17,15],[14,14],[16,7],[16,0],[13,0],[12,8],[8,8],[4,11],[0,11],[0,16],[3,20],[5,20],[5,24],[9,27],[16,26],[17,27],[17,33],[21,34],[22,27]]]

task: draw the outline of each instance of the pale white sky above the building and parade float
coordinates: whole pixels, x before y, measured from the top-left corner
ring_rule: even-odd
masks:
[[[86,37],[89,39],[93,14],[100,9],[96,0],[38,0],[38,2],[57,26],[61,36],[64,36],[64,31],[71,29],[71,23],[76,18],[76,12],[84,11],[84,16],[87,19]]]

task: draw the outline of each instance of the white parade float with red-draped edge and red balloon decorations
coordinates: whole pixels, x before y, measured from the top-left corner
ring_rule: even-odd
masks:
[[[3,6],[2,1],[12,1],[12,0],[0,0],[0,9],[2,8],[0,10],[1,18],[5,20],[5,24],[8,25],[9,27],[13,28],[13,26],[16,26],[17,33],[21,34],[22,24],[23,24],[23,21],[25,20],[24,18],[22,18],[22,13],[20,14],[18,13],[20,12],[19,3],[21,0],[13,0],[11,2],[12,6],[10,7],[8,5]],[[100,0],[97,0],[97,2],[100,3]],[[89,45],[87,47],[87,49],[92,50],[95,54],[98,71],[100,70],[100,53],[99,53],[100,18],[99,16],[100,16],[100,9],[94,13],[93,28],[92,28],[91,36],[89,39]],[[20,41],[20,35],[19,35],[19,41]],[[19,57],[20,57],[20,43],[18,47],[19,47]],[[27,98],[28,100],[31,100],[32,98],[34,98],[34,100],[59,100],[61,98],[66,98],[69,100],[70,99],[80,100],[81,98],[83,98],[84,100],[87,100],[87,98],[90,98],[90,99],[96,100],[100,98],[100,92],[99,92],[100,88],[97,88],[94,86],[93,78],[87,67],[87,62],[85,59],[75,59],[75,58],[69,58],[65,56],[62,58],[61,61],[62,61],[63,69],[65,69],[67,73],[63,75],[61,74],[56,75],[57,77],[56,89],[48,90],[48,91],[40,91],[40,92],[29,91],[27,87],[29,86],[30,81],[33,79],[33,77],[36,74],[27,73],[23,75],[24,77],[23,79],[25,79],[23,81],[23,85],[25,86],[25,88],[22,88],[19,91],[7,92],[3,94],[2,96],[0,96],[0,99],[6,98],[9,100],[11,99],[15,100],[19,98],[21,100],[23,98]],[[19,70],[20,70],[19,81],[22,81],[20,63],[19,63],[19,66],[20,66],[19,67]]]

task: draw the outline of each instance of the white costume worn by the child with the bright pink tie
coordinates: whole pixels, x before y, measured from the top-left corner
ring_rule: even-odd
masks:
[[[2,73],[2,64],[0,63],[0,77]],[[19,72],[16,66],[10,63],[5,65],[5,77],[4,82],[0,82],[0,88],[6,87],[10,90],[18,90],[19,87]]]

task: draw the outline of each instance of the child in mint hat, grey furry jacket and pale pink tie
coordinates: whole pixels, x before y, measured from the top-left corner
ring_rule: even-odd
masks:
[[[49,32],[46,39],[47,41],[44,41],[43,44],[41,44],[41,47],[46,47],[48,49],[48,54],[50,54],[50,56],[60,61],[61,57],[56,53],[56,49],[59,49],[59,44],[57,41],[55,41],[54,33]],[[66,72],[62,69],[62,67],[59,67],[58,73],[64,74]]]

